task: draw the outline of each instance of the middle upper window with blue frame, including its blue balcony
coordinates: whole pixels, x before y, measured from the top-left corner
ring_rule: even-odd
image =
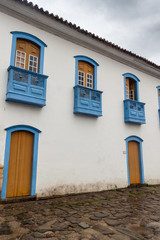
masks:
[[[97,90],[97,66],[93,59],[75,56],[74,113],[102,116],[102,91]]]

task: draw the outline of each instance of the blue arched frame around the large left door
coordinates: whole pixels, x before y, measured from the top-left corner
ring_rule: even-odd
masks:
[[[37,157],[38,157],[38,139],[39,129],[28,125],[15,125],[5,129],[7,131],[6,145],[5,145],[5,156],[4,156],[4,167],[3,167],[3,183],[2,183],[2,193],[1,199],[6,198],[7,192],[7,178],[8,178],[8,165],[9,165],[9,153],[10,153],[10,143],[11,134],[15,131],[28,131],[34,134],[33,140],[33,162],[32,162],[32,175],[31,175],[31,191],[30,195],[34,196],[36,194],[36,176],[37,176]]]

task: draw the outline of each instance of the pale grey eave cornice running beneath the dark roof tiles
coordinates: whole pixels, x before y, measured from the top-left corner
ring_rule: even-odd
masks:
[[[23,3],[20,4],[18,1],[13,0],[0,0],[0,11],[160,79],[160,68],[158,65],[154,65],[149,61],[147,62],[145,59],[141,59],[141,57],[134,54],[129,54],[128,51],[121,51],[114,46],[110,46],[103,40],[102,42],[100,39],[97,41],[95,38],[92,38],[81,31],[75,30],[56,21],[54,17],[52,19],[51,17],[48,17],[47,14],[42,14],[40,11],[36,11],[35,8],[32,8],[29,5],[27,6]]]

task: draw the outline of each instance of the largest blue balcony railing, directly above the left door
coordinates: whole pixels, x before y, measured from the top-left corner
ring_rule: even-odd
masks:
[[[43,74],[10,66],[6,101],[45,106],[47,78]]]

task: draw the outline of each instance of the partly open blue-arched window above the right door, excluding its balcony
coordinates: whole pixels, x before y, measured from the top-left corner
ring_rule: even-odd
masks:
[[[124,75],[124,98],[139,101],[139,79],[131,74]]]

